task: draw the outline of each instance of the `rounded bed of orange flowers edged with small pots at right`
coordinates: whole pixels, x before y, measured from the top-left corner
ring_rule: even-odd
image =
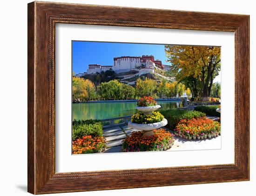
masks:
[[[211,139],[218,137],[220,131],[220,123],[206,117],[182,119],[174,130],[176,136],[185,139]]]

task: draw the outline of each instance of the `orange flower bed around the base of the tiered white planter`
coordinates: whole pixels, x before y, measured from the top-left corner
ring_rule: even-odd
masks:
[[[173,145],[173,134],[164,129],[153,130],[154,135],[143,136],[143,131],[133,132],[123,140],[124,152],[159,151],[166,150]]]

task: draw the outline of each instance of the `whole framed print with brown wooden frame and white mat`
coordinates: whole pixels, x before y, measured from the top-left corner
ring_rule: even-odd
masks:
[[[28,4],[28,192],[246,180],[249,16]]]

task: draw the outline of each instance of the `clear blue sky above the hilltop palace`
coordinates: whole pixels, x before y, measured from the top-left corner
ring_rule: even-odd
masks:
[[[121,56],[153,55],[163,64],[170,64],[162,44],[72,41],[72,52],[75,74],[86,72],[88,64],[113,65],[113,58]]]

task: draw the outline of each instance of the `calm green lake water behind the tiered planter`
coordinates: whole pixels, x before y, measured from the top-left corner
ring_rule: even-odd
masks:
[[[157,111],[182,107],[177,101],[157,101],[161,108]],[[101,103],[73,103],[73,120],[79,119],[110,119],[128,116],[136,113],[136,102],[101,102]]]

